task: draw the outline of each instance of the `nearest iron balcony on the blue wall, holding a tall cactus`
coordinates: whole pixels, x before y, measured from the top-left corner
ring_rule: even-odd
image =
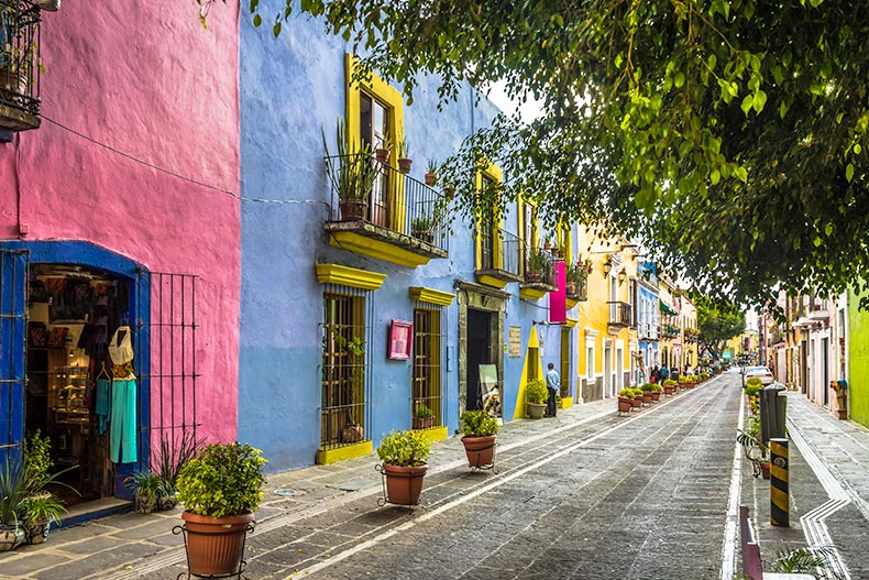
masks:
[[[332,245],[408,266],[449,256],[450,198],[360,154],[326,157],[326,167],[332,196],[324,229]]]

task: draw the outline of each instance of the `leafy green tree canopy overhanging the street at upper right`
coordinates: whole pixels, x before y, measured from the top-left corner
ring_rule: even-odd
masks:
[[[530,125],[502,118],[469,139],[447,182],[473,184],[469,161],[493,160],[509,176],[498,195],[641,236],[707,293],[755,304],[777,282],[838,293],[869,267],[860,2],[287,0],[265,14],[250,3],[275,35],[294,10],[408,102],[422,73],[439,75],[443,99],[463,80],[501,79],[542,99]]]

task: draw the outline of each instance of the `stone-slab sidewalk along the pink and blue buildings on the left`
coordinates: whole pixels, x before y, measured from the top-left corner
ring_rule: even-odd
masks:
[[[615,400],[560,409],[553,419],[519,419],[502,427],[499,451],[549,437],[553,431],[616,413]],[[276,529],[365,496],[382,494],[375,453],[329,466],[273,473],[263,488],[257,530]],[[431,445],[430,472],[465,464],[460,437]],[[52,532],[38,546],[0,554],[0,579],[132,580],[184,561],[180,507],[155,514],[127,513]]]

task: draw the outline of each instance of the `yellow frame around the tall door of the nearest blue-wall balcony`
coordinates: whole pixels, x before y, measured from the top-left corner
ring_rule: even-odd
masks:
[[[404,98],[402,94],[388,83],[378,77],[374,72],[371,73],[371,78],[367,83],[355,85],[352,83],[353,69],[359,59],[350,53],[344,54],[344,80],[346,83],[346,127],[352,145],[359,147],[362,135],[360,134],[359,116],[360,116],[360,96],[362,91],[375,98],[389,111],[389,134],[387,138],[392,143],[389,147],[389,165],[396,167],[398,165],[398,141],[405,136],[405,109]],[[397,173],[392,173],[395,178],[389,179],[389,229],[395,231],[403,231],[400,227],[404,223],[405,211],[405,180],[397,178]]]

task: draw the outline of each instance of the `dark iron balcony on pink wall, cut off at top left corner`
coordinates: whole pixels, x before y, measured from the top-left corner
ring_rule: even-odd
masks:
[[[40,127],[40,9],[0,0],[0,129]]]

